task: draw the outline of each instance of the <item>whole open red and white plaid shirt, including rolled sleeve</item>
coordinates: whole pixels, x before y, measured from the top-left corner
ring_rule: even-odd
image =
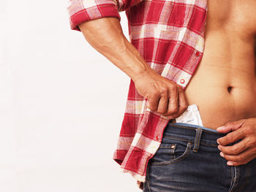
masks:
[[[186,88],[203,56],[207,0],[69,0],[70,25],[126,11],[129,40],[155,72]],[[113,159],[142,188],[148,160],[169,120],[147,108],[130,80],[126,110]]]

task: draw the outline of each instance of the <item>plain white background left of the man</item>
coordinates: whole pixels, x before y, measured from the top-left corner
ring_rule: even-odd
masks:
[[[70,29],[67,0],[1,0],[0,23],[0,191],[141,191],[113,161],[129,77]]]

